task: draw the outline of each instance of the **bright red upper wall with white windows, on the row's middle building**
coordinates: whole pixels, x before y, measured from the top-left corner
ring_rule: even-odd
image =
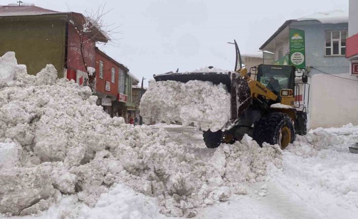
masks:
[[[103,79],[99,78],[99,60],[102,60],[104,62]],[[114,67],[116,69],[115,83],[112,83],[112,81],[111,81],[112,80],[112,67]],[[111,59],[106,57],[105,55],[102,55],[100,52],[96,51],[95,69],[96,69],[96,91],[99,91],[105,95],[112,95],[117,98],[119,66],[115,62],[113,62]],[[111,91],[105,90],[105,81],[110,82]]]

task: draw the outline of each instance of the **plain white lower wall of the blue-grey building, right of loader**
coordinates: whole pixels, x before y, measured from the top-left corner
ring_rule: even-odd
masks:
[[[340,77],[357,80],[349,73]],[[311,129],[341,127],[349,122],[358,124],[358,81],[326,74],[311,77]]]

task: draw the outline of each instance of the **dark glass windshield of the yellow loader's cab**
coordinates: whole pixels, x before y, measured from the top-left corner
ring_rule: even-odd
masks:
[[[276,95],[281,89],[294,89],[293,66],[260,65],[257,80]]]

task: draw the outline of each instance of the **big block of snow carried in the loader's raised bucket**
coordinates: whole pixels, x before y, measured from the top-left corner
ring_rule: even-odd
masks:
[[[209,81],[151,81],[140,101],[140,114],[155,121],[194,123],[216,132],[230,119],[230,94],[224,84]]]

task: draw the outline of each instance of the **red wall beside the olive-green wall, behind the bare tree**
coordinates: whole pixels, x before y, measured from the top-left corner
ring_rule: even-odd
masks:
[[[82,41],[84,43],[82,43]],[[67,37],[67,69],[81,70],[87,72],[81,54],[81,44],[83,48],[83,56],[86,61],[87,67],[95,66],[95,47],[94,40],[89,40],[84,36],[81,39],[80,34],[77,32],[72,24],[68,24],[68,37]]]

